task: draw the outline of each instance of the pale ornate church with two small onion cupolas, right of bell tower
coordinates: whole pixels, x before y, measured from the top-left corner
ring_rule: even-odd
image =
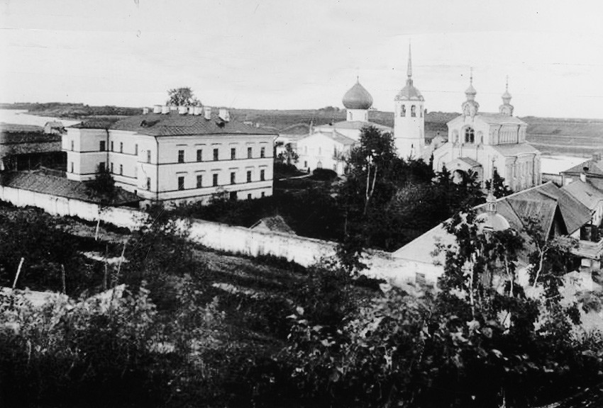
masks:
[[[463,113],[447,123],[448,142],[433,152],[435,171],[444,166],[456,176],[475,171],[482,183],[497,171],[513,191],[541,183],[541,153],[526,142],[528,125],[513,116],[508,88],[507,82],[498,113],[482,113],[471,75]]]

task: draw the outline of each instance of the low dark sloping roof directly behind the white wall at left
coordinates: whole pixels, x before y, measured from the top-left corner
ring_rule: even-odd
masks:
[[[15,171],[2,174],[0,184],[6,187],[21,188],[23,190],[35,191],[36,193],[72,198],[89,203],[101,202],[101,199],[85,183],[63,177],[49,176],[37,171]],[[140,201],[140,198],[135,194],[129,193],[123,190],[123,188],[116,187],[116,197],[112,200],[111,204],[121,205],[138,201]]]

